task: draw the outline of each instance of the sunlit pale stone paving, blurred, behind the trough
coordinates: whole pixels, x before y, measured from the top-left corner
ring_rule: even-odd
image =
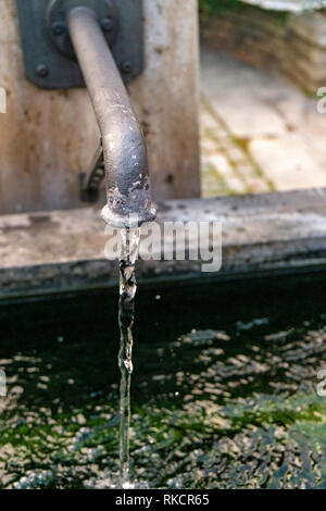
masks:
[[[206,48],[201,91],[204,197],[326,186],[319,98],[276,72]]]

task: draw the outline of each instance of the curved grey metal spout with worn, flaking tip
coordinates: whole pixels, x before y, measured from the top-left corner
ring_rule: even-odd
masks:
[[[139,123],[96,14],[76,7],[67,24],[102,136],[108,198],[103,219],[114,227],[137,227],[155,219]]]

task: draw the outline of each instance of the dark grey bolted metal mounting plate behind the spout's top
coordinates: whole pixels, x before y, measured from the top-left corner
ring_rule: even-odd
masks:
[[[142,0],[16,0],[27,79],[46,89],[84,87],[66,13],[91,8],[125,83],[143,70]]]

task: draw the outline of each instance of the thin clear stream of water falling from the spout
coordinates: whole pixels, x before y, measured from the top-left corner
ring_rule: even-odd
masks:
[[[133,373],[134,306],[137,289],[135,262],[138,253],[140,229],[121,230],[122,253],[120,260],[120,476],[121,485],[129,485],[129,426],[130,426],[130,379]]]

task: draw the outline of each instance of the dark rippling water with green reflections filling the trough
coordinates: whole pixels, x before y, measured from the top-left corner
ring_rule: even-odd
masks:
[[[136,303],[137,485],[326,488],[325,275],[145,289]],[[118,476],[116,296],[0,308],[0,488]]]

